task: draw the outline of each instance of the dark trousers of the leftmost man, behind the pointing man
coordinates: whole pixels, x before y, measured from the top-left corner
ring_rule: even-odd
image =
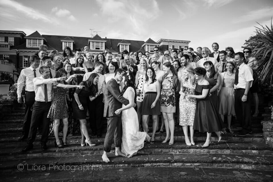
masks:
[[[30,128],[31,115],[32,115],[32,105],[35,101],[35,92],[26,91],[25,95],[25,118],[23,123],[23,136],[28,137],[28,132]]]

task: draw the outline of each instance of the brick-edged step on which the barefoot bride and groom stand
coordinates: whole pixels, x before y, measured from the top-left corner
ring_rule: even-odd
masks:
[[[137,154],[131,158],[109,154],[110,162],[101,160],[101,154],[86,154],[80,156],[40,157],[28,159],[14,159],[3,161],[0,166],[2,173],[22,172],[18,165],[22,164],[24,170],[36,166],[45,166],[50,170],[55,166],[97,165],[102,168],[116,167],[210,167],[233,168],[252,170],[273,170],[272,156],[255,156],[246,154]],[[29,166],[28,166],[29,165]],[[19,166],[20,168],[22,166]]]

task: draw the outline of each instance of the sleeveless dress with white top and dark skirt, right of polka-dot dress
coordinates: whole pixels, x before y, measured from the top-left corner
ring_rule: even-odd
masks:
[[[144,83],[144,92],[145,96],[142,103],[142,115],[160,115],[160,105],[159,105],[159,99],[156,102],[156,106],[154,108],[151,108],[152,103],[154,100],[156,100],[156,82],[151,83],[148,86],[148,83]]]

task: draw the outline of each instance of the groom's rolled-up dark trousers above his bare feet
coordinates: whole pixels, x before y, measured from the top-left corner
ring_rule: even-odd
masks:
[[[104,139],[104,151],[110,152],[113,138],[115,147],[121,146],[122,123],[121,117],[111,116],[107,118],[107,133]]]

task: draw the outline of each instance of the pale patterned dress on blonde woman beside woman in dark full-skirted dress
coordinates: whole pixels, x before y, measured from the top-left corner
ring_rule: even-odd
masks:
[[[196,84],[189,84],[188,80],[182,81],[183,86],[181,91],[187,95],[195,95]],[[193,126],[194,116],[196,110],[196,99],[195,98],[186,98],[180,95],[179,99],[179,125],[180,126]]]

